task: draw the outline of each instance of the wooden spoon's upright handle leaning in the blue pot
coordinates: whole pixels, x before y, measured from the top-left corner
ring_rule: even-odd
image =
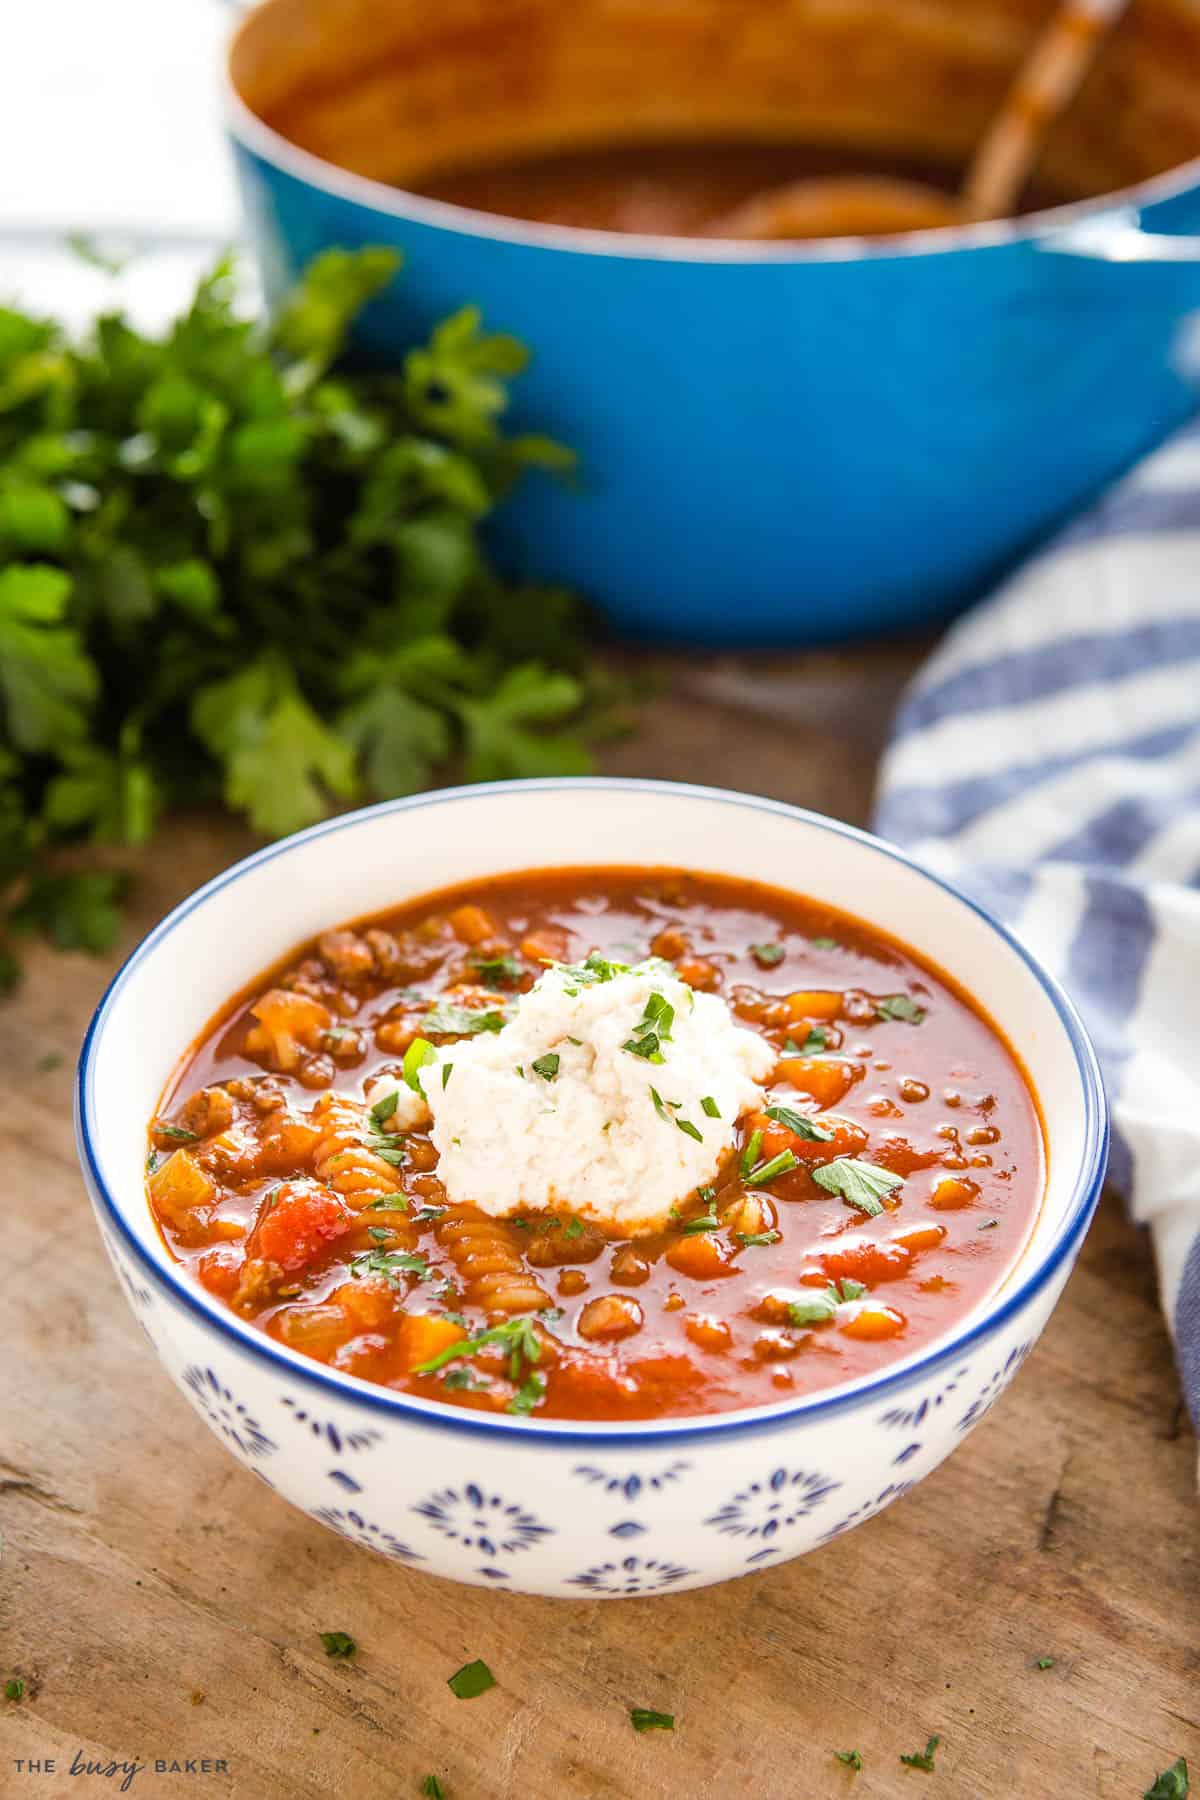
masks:
[[[1065,0],[1025,58],[963,182],[970,218],[1007,218],[1047,128],[1070,104],[1101,43],[1130,0]]]

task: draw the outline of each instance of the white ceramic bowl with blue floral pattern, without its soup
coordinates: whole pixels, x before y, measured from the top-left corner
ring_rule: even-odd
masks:
[[[185,1280],[144,1197],[146,1121],[180,1053],[326,925],[509,869],[642,864],[768,877],[869,918],[968,988],[1020,1049],[1047,1127],[1015,1269],[932,1346],[833,1391],[712,1418],[561,1424],[372,1388],[273,1343]],[[657,781],[522,781],[372,806],[248,857],[133,952],[88,1030],[79,1157],[139,1323],[270,1487],[354,1543],[475,1586],[702,1588],[783,1562],[905,1494],[1033,1348],[1096,1208],[1108,1143],[1074,1008],[993,920],[900,851],[815,814]]]

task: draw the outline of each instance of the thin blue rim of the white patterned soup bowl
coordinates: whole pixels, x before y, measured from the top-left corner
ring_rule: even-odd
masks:
[[[606,1420],[588,1420],[588,1429],[563,1429],[560,1424],[542,1422],[534,1418],[500,1418],[473,1413],[466,1408],[452,1408],[439,1404],[437,1400],[421,1400],[414,1395],[394,1393],[389,1388],[378,1388],[371,1382],[360,1381],[354,1375],[344,1375],[326,1368],[322,1363],[313,1363],[302,1357],[299,1352],[284,1352],[273,1343],[264,1332],[245,1325],[232,1312],[219,1307],[219,1301],[201,1296],[200,1289],[191,1283],[182,1273],[176,1274],[175,1267],[167,1269],[157,1262],[146,1246],[140,1242],[133,1228],[130,1226],[124,1210],[108,1188],[104,1175],[101,1174],[99,1157],[94,1147],[95,1125],[94,1125],[94,1082],[95,1082],[95,1060],[99,1049],[99,1039],[104,1028],[104,1021],[117,1003],[121,990],[133,974],[133,970],[151,956],[158,945],[162,945],[171,932],[180,925],[191,913],[205,905],[212,895],[221,889],[239,882],[252,869],[263,868],[266,862],[273,862],[275,857],[288,855],[297,844],[308,844],[320,837],[335,837],[338,832],[354,830],[365,819],[378,819],[385,814],[405,814],[419,812],[426,806],[453,806],[461,799],[486,799],[488,796],[522,796],[522,794],[556,794],[556,792],[617,792],[617,794],[655,794],[680,799],[700,799],[707,803],[720,803],[730,806],[745,806],[752,812],[768,812],[781,819],[793,819],[801,824],[815,826],[822,832],[831,832],[837,837],[847,837],[853,842],[865,846],[876,855],[889,857],[892,862],[900,862],[903,868],[919,875],[923,880],[939,887],[943,893],[950,895],[959,905],[964,905],[970,913],[975,913],[991,931],[1000,938],[1007,949],[1025,965],[1031,972],[1051,1006],[1054,1008],[1060,1024],[1070,1044],[1076,1071],[1083,1089],[1083,1150],[1079,1156],[1079,1168],[1076,1174],[1074,1192],[1054,1240],[1042,1253],[1040,1260],[1029,1271],[1029,1274],[1015,1283],[1011,1291],[1002,1291],[1004,1300],[995,1310],[984,1312],[975,1325],[966,1332],[952,1332],[948,1337],[930,1345],[925,1355],[919,1355],[912,1363],[901,1363],[892,1370],[885,1370],[876,1379],[858,1381],[844,1388],[831,1388],[828,1391],[801,1395],[795,1400],[779,1402],[777,1408],[754,1408],[739,1409],[730,1413],[712,1413],[707,1418],[682,1417],[666,1420],[646,1420],[640,1426],[633,1422],[613,1422],[619,1429],[608,1429]],[[480,878],[484,878],[480,875]],[[981,907],[968,895],[961,893],[952,882],[945,880],[941,875],[934,875],[907,851],[898,850],[894,844],[883,842],[883,839],[874,837],[871,832],[862,832],[853,824],[844,824],[840,819],[828,819],[824,814],[808,812],[802,806],[790,806],[786,801],[765,799],[756,794],[738,794],[730,788],[700,787],[684,781],[642,781],[633,778],[606,778],[606,776],[572,776],[572,778],[551,778],[540,781],[486,781],[475,787],[457,787],[457,788],[439,788],[432,794],[414,794],[407,799],[381,801],[376,806],[363,806],[358,812],[342,814],[335,819],[326,819],[320,824],[309,826],[306,832],[295,832],[291,837],[279,839],[275,844],[266,844],[263,850],[254,851],[250,857],[243,857],[232,868],[216,875],[196,893],[180,900],[176,907],[167,913],[158,925],[153,927],[142,938],[142,941],[131,950],[126,961],[121,965],[108,988],[104,990],[92,1022],[88,1024],[86,1035],[83,1039],[83,1048],[79,1051],[79,1066],[76,1071],[76,1143],[79,1150],[79,1161],[83,1163],[85,1179],[92,1199],[99,1199],[101,1211],[115,1226],[124,1246],[133,1253],[142,1269],[162,1287],[167,1294],[180,1301],[187,1312],[198,1318],[209,1330],[212,1330],[219,1339],[236,1345],[239,1350],[246,1352],[252,1361],[263,1361],[273,1370],[279,1370],[297,1381],[308,1382],[318,1388],[326,1395],[335,1395],[336,1399],[365,1406],[371,1411],[385,1413],[392,1418],[407,1418],[414,1424],[434,1426],[444,1431],[459,1431],[470,1436],[495,1438],[507,1444],[547,1444],[547,1445],[619,1445],[624,1449],[631,1447],[653,1447],[660,1444],[678,1444],[696,1438],[711,1438],[716,1435],[732,1436],[754,1431],[774,1431],[777,1427],[786,1427],[792,1424],[808,1424],[815,1418],[829,1417],[831,1413],[846,1411],[847,1408],[856,1408],[864,1404],[874,1404],[885,1395],[910,1386],[914,1381],[930,1373],[930,1370],[939,1368],[943,1363],[964,1355],[970,1348],[991,1337],[1000,1327],[1013,1319],[1036,1294],[1047,1285],[1047,1282],[1056,1274],[1067,1258],[1070,1258],[1087,1231],[1092,1213],[1096,1211],[1099,1193],[1105,1181],[1105,1166],[1108,1159],[1108,1103],[1105,1098],[1105,1087],[1101,1082],[1099,1064],[1096,1060],[1096,1051],[1088,1040],[1074,1004],[1067,999],[1060,985],[1049,976],[1042,965],[1029,954],[1029,950],[1013,936],[1013,932],[993,918],[986,907]],[[139,1202],[146,1206],[146,1195],[139,1190]],[[1020,1267],[1020,1264],[1016,1265]],[[986,1307],[988,1301],[982,1301]],[[578,1424],[585,1424],[579,1420]]]

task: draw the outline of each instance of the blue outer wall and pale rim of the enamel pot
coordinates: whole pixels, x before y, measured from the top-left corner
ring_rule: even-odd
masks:
[[[497,553],[579,587],[624,635],[928,626],[1196,403],[1200,162],[876,243],[522,223],[347,173],[264,122],[239,58],[290,4],[243,25],[228,101],[268,293],[318,250],[383,243],[405,266],[363,351],[396,358],[468,301],[524,338],[515,423],[576,446],[583,482],[522,484]]]

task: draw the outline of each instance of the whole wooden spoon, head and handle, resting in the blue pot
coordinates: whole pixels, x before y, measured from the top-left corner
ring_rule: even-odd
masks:
[[[876,238],[1007,218],[1045,135],[1079,92],[1130,0],[1063,0],[1025,58],[959,194],[925,182],[846,175],[792,182],[714,220],[707,238]]]

